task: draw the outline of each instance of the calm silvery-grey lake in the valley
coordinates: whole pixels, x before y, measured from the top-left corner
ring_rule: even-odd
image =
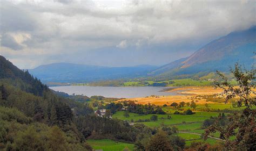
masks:
[[[134,98],[151,95],[170,96],[178,95],[176,92],[163,91],[172,87],[90,87],[90,86],[62,86],[50,87],[55,91],[62,91],[69,95],[104,96],[114,98]]]

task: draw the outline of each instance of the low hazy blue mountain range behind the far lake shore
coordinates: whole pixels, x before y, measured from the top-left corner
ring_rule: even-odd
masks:
[[[86,64],[52,63],[29,69],[42,82],[91,82],[144,76],[156,66],[103,67]]]

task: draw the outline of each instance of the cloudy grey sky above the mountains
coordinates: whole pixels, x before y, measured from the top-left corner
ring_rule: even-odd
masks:
[[[255,1],[1,1],[0,54],[17,67],[161,66],[256,25]]]

